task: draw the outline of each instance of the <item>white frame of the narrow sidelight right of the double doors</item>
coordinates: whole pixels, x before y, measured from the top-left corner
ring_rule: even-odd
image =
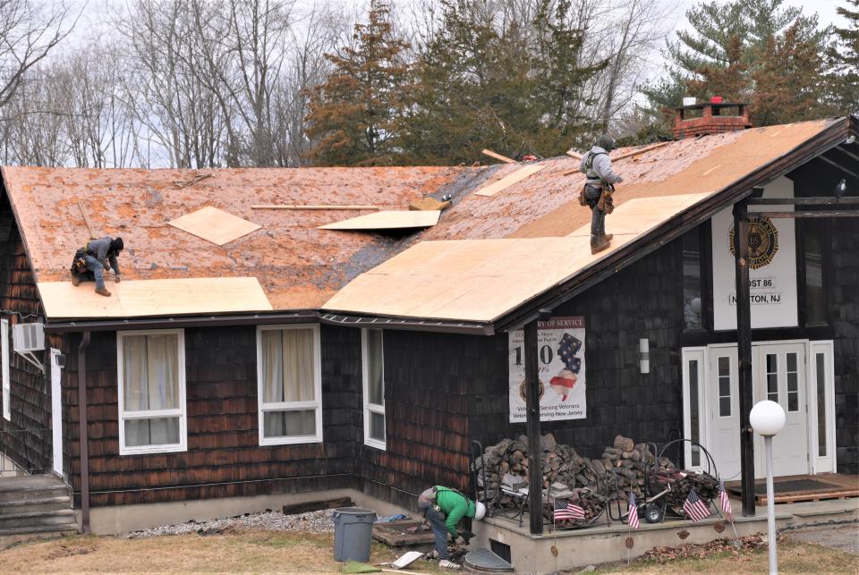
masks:
[[[835,343],[832,340],[808,342],[808,349],[805,351],[805,366],[806,374],[806,399],[805,404],[808,406],[809,417],[808,427],[810,430],[809,454],[812,458],[812,473],[837,473],[838,461],[836,459],[838,451],[835,444]],[[823,354],[823,368],[826,371],[826,381],[817,380],[817,354]],[[829,385],[828,385],[829,384]],[[817,389],[819,385],[824,385],[823,401],[825,406],[825,425],[826,425],[826,455],[820,456],[820,445],[817,427]]]

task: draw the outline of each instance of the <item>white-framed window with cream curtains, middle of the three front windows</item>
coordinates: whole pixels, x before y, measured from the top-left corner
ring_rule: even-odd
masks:
[[[322,441],[319,326],[257,331],[259,444]]]

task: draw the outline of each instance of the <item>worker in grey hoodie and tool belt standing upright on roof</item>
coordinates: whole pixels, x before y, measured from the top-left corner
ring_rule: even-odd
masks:
[[[579,167],[586,178],[580,203],[591,208],[592,254],[608,248],[611,243],[612,234],[606,233],[606,214],[611,214],[615,208],[611,198],[615,190],[614,184],[624,181],[611,171],[608,152],[613,149],[615,140],[606,134],[601,135],[591,151],[582,156],[582,165]]]

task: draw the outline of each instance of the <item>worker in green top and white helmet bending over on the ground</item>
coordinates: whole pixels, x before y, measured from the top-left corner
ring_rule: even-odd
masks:
[[[438,566],[444,569],[459,569],[459,564],[450,560],[447,552],[447,534],[454,538],[454,543],[468,545],[472,534],[456,531],[456,524],[464,517],[481,520],[486,515],[486,505],[473,502],[455,489],[443,486],[429,487],[418,497],[418,508],[429,521],[433,534],[436,536],[435,553],[438,555]],[[466,537],[468,536],[468,537]]]

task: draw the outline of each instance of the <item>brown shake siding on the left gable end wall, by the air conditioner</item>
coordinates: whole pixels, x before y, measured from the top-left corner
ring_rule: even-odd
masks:
[[[0,193],[0,309],[24,315],[42,313],[30,261],[4,192]],[[38,368],[16,354],[12,347],[12,326],[34,322],[36,318],[21,320],[17,315],[8,314],[0,317],[9,320],[12,415],[11,421],[0,417],[0,451],[24,469],[37,473],[49,471],[53,457],[50,382]],[[51,345],[59,346],[59,338],[49,338],[47,347]],[[35,355],[43,363],[49,359],[47,351],[36,352]]]

